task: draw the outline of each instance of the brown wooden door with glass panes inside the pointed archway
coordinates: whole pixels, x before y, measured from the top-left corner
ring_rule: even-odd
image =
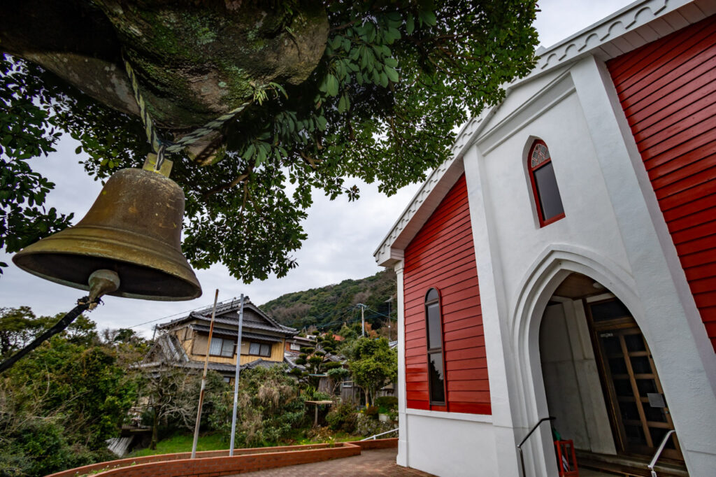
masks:
[[[619,300],[587,308],[617,449],[650,458],[674,428],[652,353]],[[662,456],[683,460],[674,435]]]

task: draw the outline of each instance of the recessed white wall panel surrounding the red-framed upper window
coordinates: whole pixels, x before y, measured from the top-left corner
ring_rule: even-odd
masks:
[[[535,138],[547,144],[564,205],[565,218],[540,228],[526,169],[526,148]],[[478,146],[479,147],[479,146]],[[575,94],[523,127],[484,156],[490,181],[485,206],[495,216],[492,232],[500,244],[505,297],[515,302],[528,268],[548,244],[579,244],[624,263],[627,256],[594,145]]]

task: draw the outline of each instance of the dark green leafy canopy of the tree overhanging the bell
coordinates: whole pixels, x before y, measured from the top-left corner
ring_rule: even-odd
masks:
[[[301,221],[314,189],[354,200],[359,190],[350,178],[377,182],[389,195],[424,180],[449,157],[455,126],[499,102],[501,85],[533,65],[533,0],[372,0],[328,2],[326,9],[329,38],[308,80],[276,88],[228,125],[226,153],[210,168],[176,158],[173,179],[187,196],[183,249],[193,266],[221,261],[247,283],[284,276],[296,266],[291,252],[306,238]],[[5,57],[4,77],[15,75],[14,64],[22,62]],[[49,74],[21,71],[29,85],[23,96],[52,105],[52,121],[82,143],[95,178],[142,163],[149,151],[136,117],[98,105]],[[2,114],[30,117],[42,135],[47,116],[32,102],[26,107],[31,111],[5,105]],[[1,140],[23,137],[15,131],[3,126]],[[29,172],[26,182],[10,203],[34,197],[42,204],[49,184]],[[25,207],[12,215],[18,213],[27,220],[4,232],[9,250],[67,224],[52,209],[43,215]],[[47,220],[37,221],[37,214]]]

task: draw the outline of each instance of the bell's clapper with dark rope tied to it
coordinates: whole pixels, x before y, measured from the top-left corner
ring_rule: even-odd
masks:
[[[89,296],[77,300],[77,307],[74,307],[69,311],[69,313],[65,314],[59,322],[52,325],[52,327],[47,329],[47,331],[40,334],[39,337],[33,339],[26,347],[16,352],[4,362],[1,362],[0,372],[12,367],[12,365],[19,361],[21,357],[37,348],[40,344],[42,344],[42,342],[47,341],[47,339],[50,339],[55,334],[62,332],[62,330],[74,322],[74,319],[79,317],[80,314],[88,310],[91,312],[95,309],[97,305],[100,304],[100,297],[107,293],[112,293],[112,291],[119,288],[120,277],[112,270],[97,270],[89,276],[88,284]]]

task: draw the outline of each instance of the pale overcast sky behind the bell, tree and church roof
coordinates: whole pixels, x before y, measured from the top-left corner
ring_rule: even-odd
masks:
[[[542,11],[535,24],[540,42],[550,47],[630,3],[626,0],[541,0],[538,4]],[[56,184],[47,197],[47,206],[62,213],[74,212],[75,221],[84,216],[101,190],[100,183],[89,178],[79,165],[78,156],[74,154],[77,145],[72,138],[64,137],[56,153],[32,160],[32,167]],[[142,323],[210,305],[216,289],[219,289],[220,301],[243,293],[255,304],[263,304],[291,291],[375,274],[379,267],[373,259],[373,251],[419,185],[404,188],[390,198],[379,194],[376,186],[358,185],[362,198],[353,203],[344,197],[329,201],[320,191],[314,193],[314,204],[304,223],[309,238],[295,254],[299,267],[282,279],[242,284],[229,276],[226,267],[216,265],[197,271],[203,289],[203,296],[198,299],[151,302],[105,297],[105,304],[89,317],[100,329],[135,327],[138,332],[149,335],[153,324]],[[0,307],[28,305],[36,314],[57,314],[72,309],[77,298],[83,295],[82,291],[19,270],[9,256],[0,254],[0,261],[9,264],[0,276]]]

